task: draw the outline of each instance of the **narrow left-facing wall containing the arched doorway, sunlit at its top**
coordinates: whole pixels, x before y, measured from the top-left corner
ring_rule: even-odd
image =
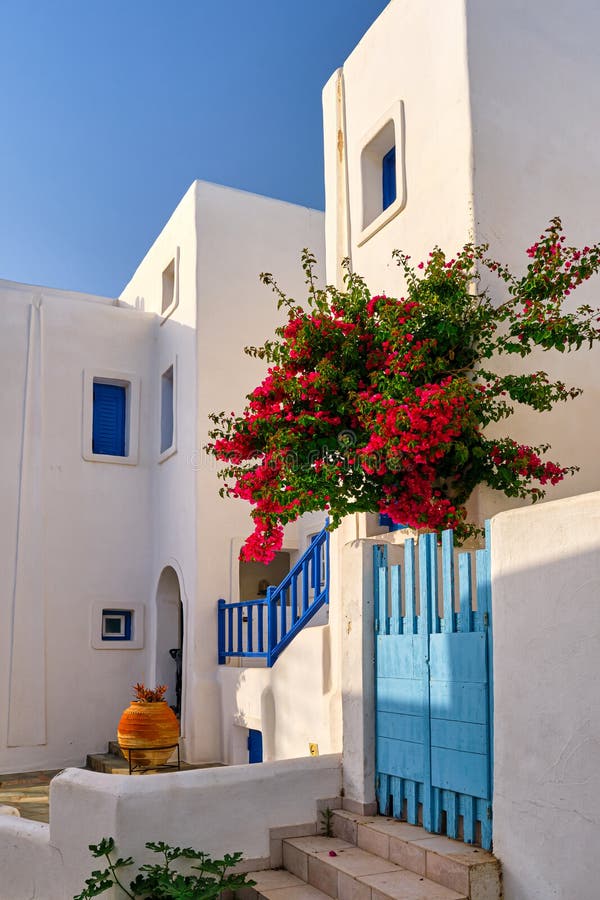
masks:
[[[169,221],[148,250],[120,300],[137,304],[152,313],[152,369],[148,391],[152,397],[149,424],[149,456],[152,473],[153,527],[149,564],[150,590],[149,649],[153,681],[169,672],[161,635],[157,631],[157,589],[161,573],[170,566],[179,581],[184,619],[184,678],[182,702],[182,752],[191,758],[194,697],[186,677],[193,657],[193,633],[196,600],[196,515],[195,429],[196,429],[196,327],[197,327],[197,235],[196,194],[194,185],[186,192]],[[176,305],[162,316],[163,271],[171,260],[176,268]],[[161,375],[174,366],[174,452],[162,458],[160,452]],[[218,499],[218,498],[217,498]],[[172,605],[172,607],[174,604]],[[176,609],[171,608],[173,615]],[[165,665],[166,662],[166,665]],[[175,664],[170,667],[169,687],[175,682]],[[216,759],[209,755],[208,759]]]

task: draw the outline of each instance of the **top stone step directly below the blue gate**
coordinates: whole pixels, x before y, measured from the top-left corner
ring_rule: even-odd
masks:
[[[502,897],[500,863],[480,847],[432,834],[418,825],[397,819],[359,816],[346,810],[333,812],[332,830],[336,839],[456,891],[469,900],[500,900]]]

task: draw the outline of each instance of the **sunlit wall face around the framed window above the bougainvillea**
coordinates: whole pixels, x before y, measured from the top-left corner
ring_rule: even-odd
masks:
[[[400,102],[406,205],[361,243],[361,152]],[[340,259],[350,256],[373,293],[401,292],[394,249],[418,261],[434,243],[454,249],[472,236],[463,2],[392,0],[325,86],[323,112],[327,280],[337,280]]]

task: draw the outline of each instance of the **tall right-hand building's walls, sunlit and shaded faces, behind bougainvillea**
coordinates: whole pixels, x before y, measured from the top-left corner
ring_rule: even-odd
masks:
[[[489,241],[493,255],[525,271],[525,248],[555,215],[574,243],[596,242],[600,141],[591,110],[600,101],[599,33],[591,0],[569,7],[559,0],[392,0],[323,92],[328,280],[339,282],[340,261],[350,256],[373,293],[401,295],[394,248],[417,263],[434,244],[454,252],[472,239]],[[360,154],[399,102],[406,204],[365,241]],[[504,299],[495,279],[485,283]],[[573,304],[596,305],[599,285],[581,288]],[[584,388],[550,413],[525,410],[498,426],[523,442],[549,442],[550,459],[581,467],[548,499],[600,486],[599,354],[507,362]],[[483,521],[520,505],[482,489],[470,508]]]

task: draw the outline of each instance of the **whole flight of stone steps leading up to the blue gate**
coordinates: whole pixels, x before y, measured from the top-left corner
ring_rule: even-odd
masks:
[[[284,838],[284,868],[251,873],[242,900],[501,900],[500,863],[485,850],[341,810],[333,834]]]

